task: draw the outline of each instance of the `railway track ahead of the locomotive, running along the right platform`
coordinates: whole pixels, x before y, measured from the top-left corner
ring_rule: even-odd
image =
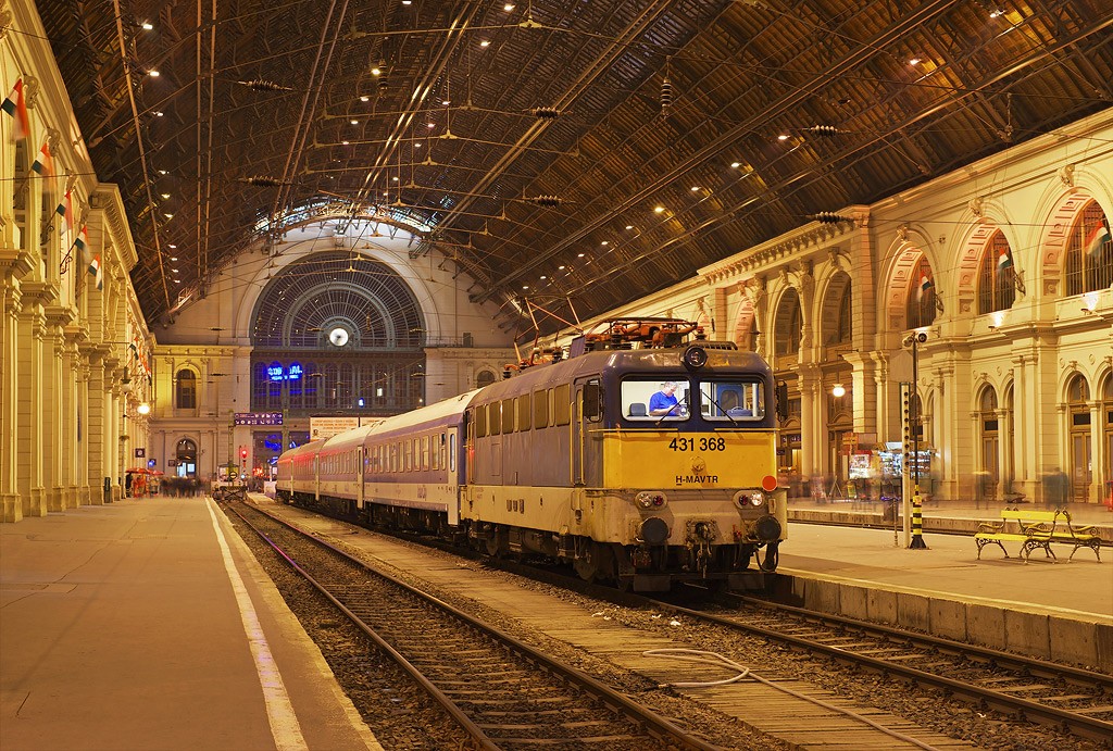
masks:
[[[1113,745],[1113,676],[746,595],[717,593],[713,599],[732,612],[647,602],[723,628],[727,639],[760,636],[854,670],[939,689],[981,710]]]

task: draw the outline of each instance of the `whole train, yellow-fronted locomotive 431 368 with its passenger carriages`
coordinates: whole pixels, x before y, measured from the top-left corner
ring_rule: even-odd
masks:
[[[278,495],[637,591],[743,586],[755,557],[775,571],[787,503],[768,364],[654,318],[612,322],[569,354],[329,438],[309,449],[315,484],[284,454]]]

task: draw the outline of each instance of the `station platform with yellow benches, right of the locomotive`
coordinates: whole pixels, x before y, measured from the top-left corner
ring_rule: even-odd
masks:
[[[1074,526],[1095,526],[1101,562],[1087,549],[1070,560],[1071,545],[1052,544],[1056,559],[1037,550],[1026,563],[1018,543],[1006,543],[1007,559],[987,545],[978,560],[978,524],[999,522],[1005,507],[926,503],[927,547],[919,550],[908,546],[899,508],[894,530],[880,503],[789,500],[777,570],[787,579],[779,594],[824,612],[1113,674],[1113,512],[1066,507]]]

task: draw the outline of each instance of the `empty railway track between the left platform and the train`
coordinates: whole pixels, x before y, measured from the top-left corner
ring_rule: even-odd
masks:
[[[244,503],[225,508],[424,686],[475,748],[717,748],[282,520]]]

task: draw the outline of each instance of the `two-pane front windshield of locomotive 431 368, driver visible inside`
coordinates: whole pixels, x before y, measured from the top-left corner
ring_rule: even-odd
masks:
[[[760,381],[715,378],[692,383],[628,377],[621,387],[622,416],[634,422],[684,422],[698,412],[709,422],[758,422],[766,414],[765,387]]]

